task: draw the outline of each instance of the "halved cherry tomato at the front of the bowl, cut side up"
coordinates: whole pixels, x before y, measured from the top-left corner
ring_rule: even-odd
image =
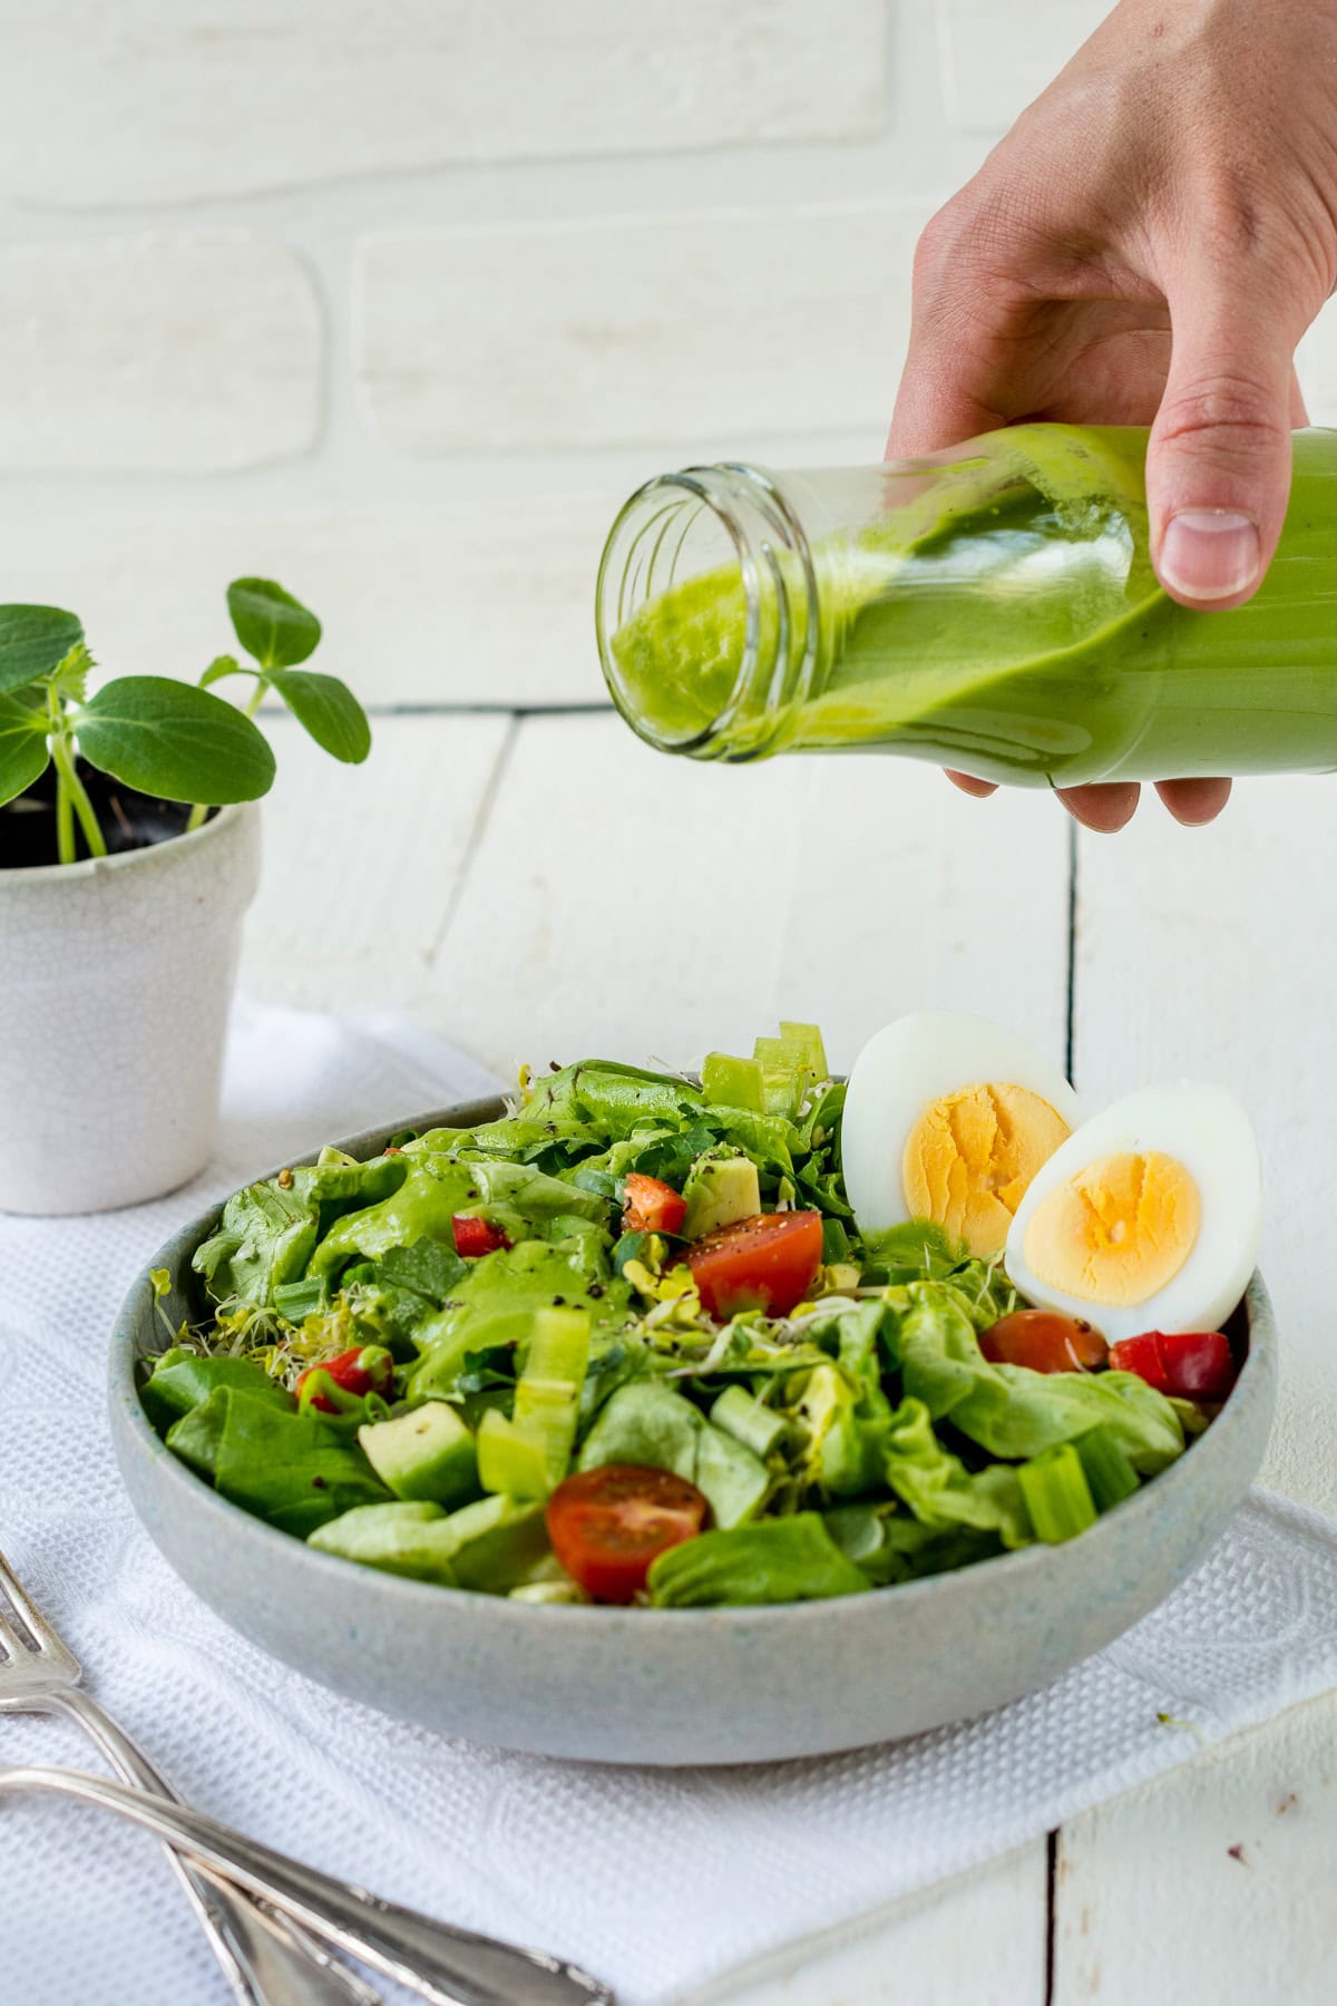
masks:
[[[696,1539],[710,1504],[684,1476],[639,1462],[605,1462],[557,1484],[547,1537],[571,1581],[597,1603],[629,1603],[649,1563]]]

